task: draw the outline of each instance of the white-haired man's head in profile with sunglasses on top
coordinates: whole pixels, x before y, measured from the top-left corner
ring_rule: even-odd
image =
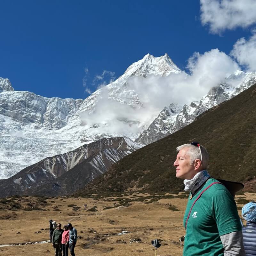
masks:
[[[197,172],[207,168],[209,155],[199,143],[183,144],[177,147],[177,151],[179,153],[173,163],[177,178],[191,180]]]

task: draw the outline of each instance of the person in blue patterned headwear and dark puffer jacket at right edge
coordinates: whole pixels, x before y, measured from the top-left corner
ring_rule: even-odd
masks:
[[[244,205],[242,217],[246,220],[246,227],[242,229],[245,255],[256,255],[256,202]]]

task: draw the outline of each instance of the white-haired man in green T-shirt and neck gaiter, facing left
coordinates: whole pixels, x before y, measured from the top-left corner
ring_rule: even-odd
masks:
[[[227,188],[207,172],[208,152],[197,142],[181,145],[177,151],[173,164],[176,177],[183,179],[185,191],[190,191],[183,220],[183,255],[244,256],[236,202]]]

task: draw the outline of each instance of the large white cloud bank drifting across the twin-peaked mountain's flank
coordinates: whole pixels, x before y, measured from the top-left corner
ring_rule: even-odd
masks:
[[[199,100],[212,86],[218,85],[239,67],[224,52],[213,49],[204,54],[193,54],[188,60],[188,68],[190,76],[183,71],[167,77],[130,77],[122,93],[137,94],[139,103],[131,103],[128,98],[126,104],[119,102],[118,99],[110,99],[108,86],[103,86],[100,92],[98,91],[100,95],[97,96],[93,113],[82,112],[81,119],[86,128],[99,124],[93,129],[95,134],[116,133],[136,136],[142,129],[147,128],[146,126],[165,106],[170,103],[183,105],[192,100]]]

